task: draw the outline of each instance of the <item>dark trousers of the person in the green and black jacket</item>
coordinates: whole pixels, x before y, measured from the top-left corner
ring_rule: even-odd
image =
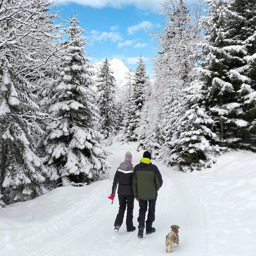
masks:
[[[145,228],[146,212],[148,210],[148,219],[146,220],[146,232],[152,229],[152,223],[155,221],[156,198],[150,200],[139,199],[139,227]]]

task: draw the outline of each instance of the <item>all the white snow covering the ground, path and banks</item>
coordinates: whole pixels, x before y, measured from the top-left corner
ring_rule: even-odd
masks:
[[[126,232],[125,220],[114,232],[118,198],[111,193],[114,174],[126,151],[133,164],[143,152],[133,143],[114,142],[112,169],[86,187],[56,188],[34,200],[0,209],[1,256],[149,256],[166,255],[165,236],[180,226],[180,244],[171,255],[254,256],[256,251],[256,154],[226,153],[201,172],[183,173],[152,160],[163,176],[156,202],[156,233],[138,238]],[[168,253],[169,254],[169,253]]]

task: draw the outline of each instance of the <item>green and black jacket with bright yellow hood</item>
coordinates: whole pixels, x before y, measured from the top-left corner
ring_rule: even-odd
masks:
[[[134,196],[142,200],[154,199],[162,185],[162,175],[156,165],[149,158],[141,158],[140,164],[135,165],[132,176]]]

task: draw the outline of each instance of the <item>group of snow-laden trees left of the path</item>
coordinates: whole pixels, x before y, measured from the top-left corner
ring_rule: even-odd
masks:
[[[94,73],[76,16],[46,0],[0,2],[0,204],[88,184],[110,168]],[[66,38],[66,39],[64,39]]]

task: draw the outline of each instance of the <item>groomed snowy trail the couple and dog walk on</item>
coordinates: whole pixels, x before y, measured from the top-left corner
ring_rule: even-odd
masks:
[[[127,145],[116,146],[120,146],[120,156],[110,156],[111,163],[122,159],[125,150],[131,150]],[[138,163],[141,154],[133,152],[132,154],[133,163]],[[175,174],[170,168],[156,161],[153,163],[158,166],[164,181],[156,201],[156,220],[153,223],[156,233],[146,235],[144,232],[143,239],[137,237],[139,213],[137,201],[134,202],[133,212],[136,231],[127,232],[124,219],[119,232],[114,232],[114,221],[119,207],[118,198],[115,198],[112,205],[107,198],[111,192],[117,167],[113,164],[109,179],[87,186],[90,187],[90,194],[88,195],[88,190],[85,190],[86,195],[79,204],[61,212],[56,218],[56,221],[63,220],[63,223],[69,223],[68,227],[61,225],[61,222],[57,225],[58,229],[56,225],[54,225],[55,229],[45,225],[45,229],[40,230],[40,234],[30,235],[24,238],[22,244],[17,244],[11,256],[119,256],[127,253],[129,256],[166,255],[165,236],[170,232],[173,224],[180,226],[180,244],[174,245],[175,255],[206,255],[207,230],[199,200],[180,178],[180,174]],[[36,251],[31,252],[31,243],[37,248]]]

